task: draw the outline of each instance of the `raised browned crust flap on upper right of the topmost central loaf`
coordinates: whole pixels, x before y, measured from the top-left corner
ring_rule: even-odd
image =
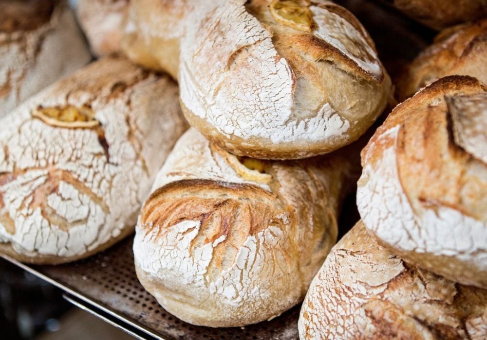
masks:
[[[285,33],[289,43],[314,61],[330,61],[368,80],[383,80],[374,42],[343,7],[331,1],[274,0],[269,8],[278,24],[293,29],[274,27],[277,34]]]

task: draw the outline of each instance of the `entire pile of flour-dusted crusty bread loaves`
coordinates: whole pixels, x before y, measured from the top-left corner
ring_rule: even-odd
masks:
[[[141,284],[188,323],[304,299],[302,339],[487,339],[486,19],[438,35],[372,136],[393,86],[331,1],[80,0],[77,16],[101,59],[32,96],[90,55],[64,1],[0,2],[0,252],[74,261],[136,223]],[[335,245],[357,180],[361,221]]]

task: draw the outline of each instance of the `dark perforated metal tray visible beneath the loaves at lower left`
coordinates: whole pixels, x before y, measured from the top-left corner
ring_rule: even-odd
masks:
[[[144,290],[133,266],[132,238],[86,260],[58,266],[8,261],[63,289],[66,299],[139,339],[298,339],[299,306],[271,321],[238,328],[184,323]]]

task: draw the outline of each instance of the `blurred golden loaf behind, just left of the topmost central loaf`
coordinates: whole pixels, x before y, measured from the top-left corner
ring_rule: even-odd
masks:
[[[178,78],[179,41],[195,1],[131,0],[122,49],[135,63]]]

